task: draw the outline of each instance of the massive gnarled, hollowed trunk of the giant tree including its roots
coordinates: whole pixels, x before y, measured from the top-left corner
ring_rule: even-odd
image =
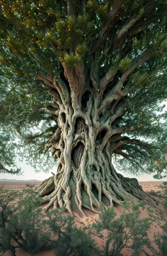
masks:
[[[120,204],[130,194],[138,199],[146,198],[136,179],[117,174],[112,165],[114,151],[127,157],[120,150],[121,145],[138,143],[121,137],[132,127],[115,125],[127,105],[123,100],[127,92],[121,88],[128,73],[104,94],[116,72],[109,70],[97,83],[92,73],[90,80],[85,79],[82,65],[73,70],[64,68],[69,86],[60,77],[52,79],[38,75],[52,88],[49,93],[56,110],[46,112],[55,116],[58,124],[46,150],[52,147],[53,158],[60,159],[57,174],[37,188],[43,203],[48,202],[45,210],[54,205],[65,207],[70,213],[85,214],[84,208],[97,212],[100,205]]]

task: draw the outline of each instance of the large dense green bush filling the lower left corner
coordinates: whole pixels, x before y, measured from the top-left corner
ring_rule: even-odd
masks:
[[[16,198],[17,202],[11,203]],[[6,251],[15,255],[16,248],[34,255],[47,248],[46,238],[50,234],[41,230],[43,214],[42,209],[37,208],[40,199],[31,186],[22,192],[1,190],[0,205],[0,255]]]

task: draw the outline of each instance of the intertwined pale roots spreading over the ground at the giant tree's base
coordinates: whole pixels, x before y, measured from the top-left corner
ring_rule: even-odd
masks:
[[[48,203],[45,211],[53,206],[58,209],[64,207],[71,214],[74,211],[86,215],[84,208],[97,213],[99,206],[121,204],[127,196],[144,200],[155,207],[154,201],[143,191],[137,179],[124,178],[113,168],[98,172],[94,167],[83,173],[80,166],[75,172],[73,167],[68,181],[65,172],[59,172],[37,187],[43,204]]]

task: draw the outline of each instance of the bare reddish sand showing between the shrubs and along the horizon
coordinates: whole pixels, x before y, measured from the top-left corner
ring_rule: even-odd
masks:
[[[39,185],[41,182],[30,182],[29,184],[30,185]],[[139,182],[139,184],[143,187],[143,190],[146,191],[146,192],[149,192],[151,190],[159,190],[158,188],[158,185],[160,185],[162,182]],[[21,188],[23,187],[26,187],[26,184],[27,182],[3,182],[3,185],[5,188],[12,188],[12,189],[15,189],[15,190],[20,190]],[[2,182],[0,182],[0,187],[2,186]],[[156,200],[159,200],[158,198],[154,197]],[[159,200],[160,201],[160,200]],[[154,201],[153,201],[154,202]],[[155,202],[154,202],[155,204]],[[155,205],[156,206],[156,205]],[[162,207],[162,204],[158,203],[158,208],[163,212],[163,207]],[[153,208],[154,210],[154,215],[157,216],[159,215],[158,212]],[[123,208],[121,206],[116,206],[115,207],[115,210],[114,210],[116,213],[117,213],[117,216],[119,216],[119,214],[123,211]],[[79,215],[75,214],[76,215],[76,220],[77,218],[81,219],[82,222],[85,223],[85,225],[88,225],[90,223],[93,223],[95,221],[95,219],[98,219],[99,218],[99,215],[98,214],[92,214],[93,215],[93,218],[92,215],[90,214],[91,212],[89,210],[86,210],[87,214],[89,217],[84,217],[84,218],[80,218]],[[159,215],[160,216],[160,215]],[[144,210],[141,210],[141,214],[140,214],[140,217],[141,218],[144,218],[144,217],[148,217],[148,214],[147,214],[147,210],[144,209]],[[164,222],[161,221],[161,224],[163,225]],[[161,233],[162,232],[162,229],[160,228],[159,225],[157,225],[157,223],[154,223],[152,226],[151,226],[151,232],[148,232],[148,236],[149,236],[149,239],[153,242],[154,241],[154,238],[153,238],[153,235],[154,235],[154,232],[158,233],[158,231]],[[104,233],[105,234],[105,233]],[[95,239],[95,242],[98,243],[98,246],[100,248],[102,248],[102,246],[105,244],[105,239],[102,240],[101,238],[98,238],[98,237],[93,237]],[[158,249],[155,244],[153,243],[153,246],[155,249]],[[151,252],[148,250],[147,251],[150,255],[151,255]],[[130,256],[132,255],[131,252],[128,252],[127,249],[123,249],[121,251],[121,253],[123,255],[127,255],[127,256]],[[10,254],[5,254],[5,256],[8,256]],[[17,256],[31,256],[30,254],[28,253],[23,253],[23,251],[19,250],[17,253],[16,253]],[[35,256],[56,256],[55,254],[55,250],[42,250],[40,252],[38,252]],[[142,256],[145,256],[145,254],[142,254]]]

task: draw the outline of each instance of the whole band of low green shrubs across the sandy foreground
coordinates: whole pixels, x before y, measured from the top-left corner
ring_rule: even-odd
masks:
[[[167,182],[161,188],[167,212]],[[75,215],[66,214],[63,210],[53,209],[44,213],[36,207],[40,206],[40,200],[32,186],[21,192],[1,188],[0,256],[5,252],[16,255],[16,250],[35,255],[42,249],[55,249],[58,256],[126,256],[122,253],[124,248],[133,256],[142,253],[149,256],[148,251],[153,256],[166,255],[167,221],[162,217],[162,233],[154,234],[154,242],[158,246],[155,250],[148,231],[153,222],[159,225],[159,218],[152,214],[149,207],[146,208],[143,201],[134,204],[126,198],[119,216],[114,207],[101,207],[99,218],[91,225],[91,222],[85,224],[76,220]],[[143,209],[148,212],[147,218],[140,218]],[[101,248],[95,243],[94,236],[104,241]]]

